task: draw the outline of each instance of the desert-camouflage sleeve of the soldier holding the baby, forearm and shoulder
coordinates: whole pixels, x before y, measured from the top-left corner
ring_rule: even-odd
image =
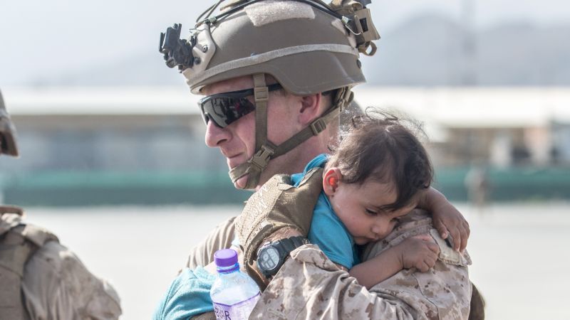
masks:
[[[339,270],[315,245],[291,257],[261,295],[253,319],[467,319],[471,284],[467,253],[453,252],[420,210],[388,238],[366,248],[364,260],[405,238],[429,232],[440,245],[440,260],[429,272],[402,270],[370,292]]]

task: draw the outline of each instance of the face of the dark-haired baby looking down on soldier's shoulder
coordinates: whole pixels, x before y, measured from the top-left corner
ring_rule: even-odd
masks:
[[[416,204],[412,203],[395,211],[380,210],[380,207],[396,200],[397,195],[392,183],[367,180],[358,185],[338,182],[341,180],[339,177],[336,187],[333,188],[330,183],[335,181],[331,181],[327,174],[328,172],[323,181],[324,191],[336,215],[357,245],[366,245],[368,242],[385,238],[398,223],[398,218],[415,208]]]

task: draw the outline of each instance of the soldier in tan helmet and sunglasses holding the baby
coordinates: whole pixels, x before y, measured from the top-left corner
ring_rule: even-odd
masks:
[[[421,279],[404,270],[370,292],[314,245],[287,250],[272,269],[260,272],[257,267],[260,247],[306,235],[309,228],[322,178],[314,174],[299,188],[287,187],[284,176],[270,178],[301,172],[336,142],[338,114],[350,108],[351,87],[365,82],[359,55],[373,55],[372,41],[378,39],[366,2],[232,1],[217,16],[211,16],[216,5],[198,18],[188,41],[179,39],[178,25],[161,35],[167,65],[178,66],[190,90],[205,95],[199,101],[207,125],[205,141],[227,158],[234,186],[259,190],[266,183],[262,190],[268,192],[256,194],[268,198],[250,199],[237,220],[217,226],[187,261],[190,269],[207,266],[214,252],[230,247],[237,236],[248,272],[262,286],[263,277],[272,279],[252,317],[466,319],[470,314],[470,261],[458,252],[467,245],[460,230],[469,230],[462,219],[448,226],[454,250],[439,236],[449,233],[445,225],[433,221],[435,232],[421,212],[410,215],[409,223],[386,240],[369,245],[365,257],[410,235],[430,233],[441,250],[436,267]],[[297,193],[294,202],[291,192]],[[182,319],[201,310],[195,304],[196,309],[185,309],[192,299],[186,279],[200,277],[185,278],[188,274],[183,271],[172,282],[155,318]]]

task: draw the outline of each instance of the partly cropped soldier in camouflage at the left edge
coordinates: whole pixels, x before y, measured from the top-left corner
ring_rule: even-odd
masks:
[[[16,130],[0,94],[0,154],[18,156]],[[118,319],[115,289],[95,277],[56,235],[0,206],[0,318]]]

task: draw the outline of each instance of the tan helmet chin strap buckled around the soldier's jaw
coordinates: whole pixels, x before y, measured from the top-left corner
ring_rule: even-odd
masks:
[[[276,146],[267,139],[267,100],[269,90],[265,83],[264,73],[253,75],[254,78],[254,99],[255,99],[255,154],[247,162],[240,164],[229,170],[229,177],[236,183],[242,176],[249,175],[247,183],[243,189],[255,189],[259,184],[261,172],[266,168],[271,159],[286,154],[307,139],[320,134],[326,129],[331,120],[338,117],[344,107],[353,100],[351,87],[343,87],[338,90],[333,106],[321,117],[315,119],[309,127],[297,132],[286,142]]]

